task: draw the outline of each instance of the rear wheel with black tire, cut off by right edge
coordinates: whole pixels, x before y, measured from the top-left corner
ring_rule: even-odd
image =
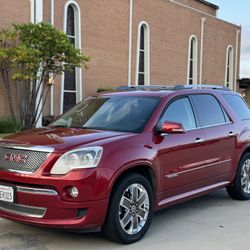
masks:
[[[250,199],[250,153],[246,153],[240,160],[233,183],[227,187],[232,199]]]

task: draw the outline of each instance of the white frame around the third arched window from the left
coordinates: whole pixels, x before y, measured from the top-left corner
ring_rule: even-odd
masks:
[[[191,61],[191,45],[192,41],[195,41],[193,47],[193,78],[190,78],[190,61]],[[189,43],[188,43],[188,65],[187,65],[187,84],[189,80],[193,80],[193,84],[198,84],[198,40],[195,35],[190,36]]]

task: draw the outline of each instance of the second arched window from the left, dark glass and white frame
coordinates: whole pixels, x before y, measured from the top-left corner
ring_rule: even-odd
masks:
[[[141,22],[138,27],[136,84],[150,84],[150,37],[146,22]]]

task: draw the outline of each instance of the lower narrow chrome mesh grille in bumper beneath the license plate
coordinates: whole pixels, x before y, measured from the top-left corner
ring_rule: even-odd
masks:
[[[32,218],[43,218],[46,213],[46,208],[0,201],[0,211]]]

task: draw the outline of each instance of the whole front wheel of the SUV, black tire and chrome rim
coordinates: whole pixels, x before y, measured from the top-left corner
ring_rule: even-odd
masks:
[[[140,240],[151,224],[153,207],[153,190],[145,177],[134,173],[122,177],[110,199],[104,235],[123,244]]]

